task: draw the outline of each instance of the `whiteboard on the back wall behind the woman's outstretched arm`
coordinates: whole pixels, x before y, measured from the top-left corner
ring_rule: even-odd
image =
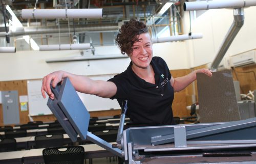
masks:
[[[89,76],[94,80],[108,80],[114,75],[101,75],[101,76]],[[51,115],[52,112],[47,106],[47,98],[43,98],[41,95],[42,80],[28,80],[28,103],[29,103],[29,115]],[[83,104],[86,106],[89,112],[91,111],[104,111],[104,110],[116,110],[120,109],[120,105],[116,99],[111,100],[109,98],[102,98],[95,95],[84,94],[77,92]]]

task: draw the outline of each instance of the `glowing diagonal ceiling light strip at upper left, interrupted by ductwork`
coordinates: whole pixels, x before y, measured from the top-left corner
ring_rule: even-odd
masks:
[[[6,5],[6,9],[7,11],[11,14],[12,16],[12,21],[11,21],[11,30],[13,31],[16,31],[17,28],[20,28],[20,27],[23,27],[22,23],[18,20],[18,18],[16,17],[16,15],[13,13],[12,9],[9,7],[9,5]],[[28,43],[30,44],[31,48],[33,50],[38,50],[39,47],[38,45],[36,44],[36,42],[30,38],[28,35],[26,36],[23,36],[23,39]]]

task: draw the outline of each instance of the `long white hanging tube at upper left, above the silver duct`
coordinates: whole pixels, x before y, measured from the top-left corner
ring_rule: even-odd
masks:
[[[102,18],[102,9],[23,9],[22,18]]]

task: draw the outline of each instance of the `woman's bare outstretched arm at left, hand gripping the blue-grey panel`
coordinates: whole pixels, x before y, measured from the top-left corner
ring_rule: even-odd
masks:
[[[51,99],[54,99],[54,94],[50,88],[51,81],[52,86],[55,88],[65,77],[69,77],[75,90],[81,93],[110,98],[113,97],[117,91],[116,85],[111,81],[93,80],[87,76],[76,75],[65,71],[56,71],[43,78],[41,87],[42,96],[46,98],[45,93],[47,93]]]

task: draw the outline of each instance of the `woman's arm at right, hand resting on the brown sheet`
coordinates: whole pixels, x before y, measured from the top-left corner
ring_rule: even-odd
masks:
[[[212,76],[211,72],[211,70],[203,68],[197,69],[182,77],[173,78],[172,76],[172,78],[170,78],[170,85],[173,86],[174,92],[179,92],[197,79],[197,73],[204,73],[207,76]]]

